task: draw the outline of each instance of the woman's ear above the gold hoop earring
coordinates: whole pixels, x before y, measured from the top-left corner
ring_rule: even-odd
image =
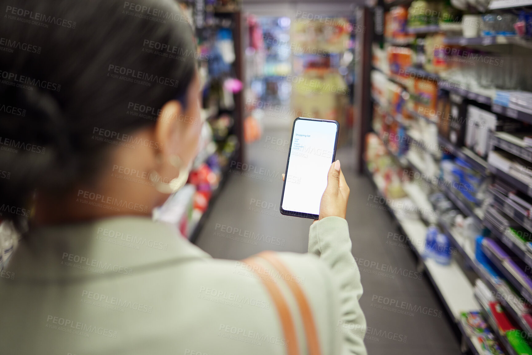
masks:
[[[177,117],[182,113],[181,103],[177,100],[171,100],[164,104],[157,123],[155,124],[155,141],[161,146],[163,155],[166,157],[170,154],[176,154],[178,151],[178,129]]]

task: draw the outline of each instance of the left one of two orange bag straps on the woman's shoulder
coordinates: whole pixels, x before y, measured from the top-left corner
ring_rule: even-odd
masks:
[[[265,273],[264,268],[252,258],[243,260],[247,265],[252,266],[252,269],[257,276],[262,280],[262,284],[270,294],[273,302],[275,302],[277,313],[281,320],[282,331],[285,334],[288,355],[300,355],[299,346],[297,344],[297,335],[294,327],[294,320],[290,314],[290,309],[282,292],[276,284],[276,280]]]

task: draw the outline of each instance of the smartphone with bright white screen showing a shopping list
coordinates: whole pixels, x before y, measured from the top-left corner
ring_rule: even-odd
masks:
[[[298,117],[282,185],[281,214],[318,219],[320,201],[327,187],[327,174],[335,161],[338,122]]]

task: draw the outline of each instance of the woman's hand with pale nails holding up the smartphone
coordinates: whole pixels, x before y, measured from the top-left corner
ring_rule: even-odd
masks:
[[[282,180],[285,180],[285,174],[282,174]],[[340,161],[337,160],[331,164],[327,174],[327,187],[321,196],[319,219],[331,216],[345,219],[348,199],[349,186],[340,169]]]

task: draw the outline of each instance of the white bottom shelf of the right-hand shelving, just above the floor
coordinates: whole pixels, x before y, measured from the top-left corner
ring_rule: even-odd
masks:
[[[364,164],[365,166],[365,164]],[[378,194],[382,189],[379,187],[380,183],[365,166],[365,171],[369,175],[370,180],[375,186]],[[390,210],[393,210],[390,207]],[[433,259],[422,258],[423,248],[425,245],[425,235],[427,227],[420,220],[402,220],[392,213],[394,219],[400,225],[404,234],[407,236],[412,250],[417,254],[419,260],[423,262],[427,276],[431,283],[433,283],[440,299],[454,321],[459,321],[460,314],[463,311],[478,311],[479,306],[473,298],[473,288],[469,279],[463,273],[458,263],[452,260],[450,265],[439,265]]]

